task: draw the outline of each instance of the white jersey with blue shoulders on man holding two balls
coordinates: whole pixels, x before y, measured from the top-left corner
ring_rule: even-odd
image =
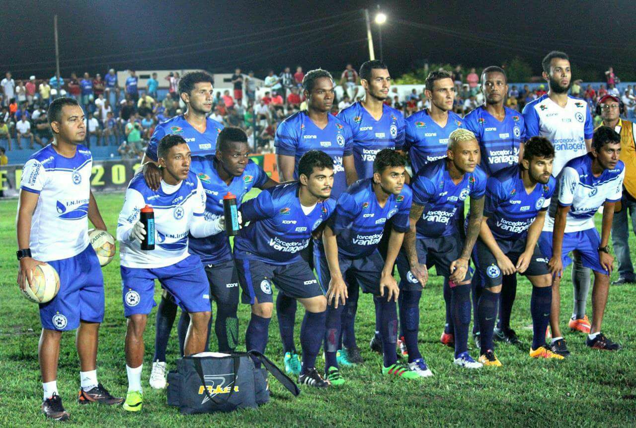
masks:
[[[88,246],[92,167],[93,156],[81,145],[73,158],[65,158],[48,144],[25,163],[20,188],[39,195],[29,237],[34,259],[67,259]]]

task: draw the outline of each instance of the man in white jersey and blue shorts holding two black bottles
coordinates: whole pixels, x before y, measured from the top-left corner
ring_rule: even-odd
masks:
[[[149,188],[141,174],[133,177],[121,209],[117,240],[120,242],[121,294],[128,318],[125,339],[128,393],[125,410],[139,411],[143,396],[141,370],[144,361],[144,330],[155,304],[155,279],[182,310],[190,314],[184,355],[205,349],[211,317],[209,286],[198,256],[188,252],[188,233],[207,237],[223,230],[223,217],[206,221],[205,191],[197,174],[190,171],[190,147],[181,135],[165,135],[158,144],[162,171],[160,189]],[[155,227],[146,230],[140,211],[151,207]],[[155,249],[144,251],[141,242],[155,233]]]

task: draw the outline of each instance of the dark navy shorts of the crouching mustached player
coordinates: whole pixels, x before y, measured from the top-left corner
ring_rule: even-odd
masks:
[[[306,261],[291,265],[270,265],[259,260],[237,259],[243,303],[273,303],[272,284],[294,299],[322,296],[322,289]]]

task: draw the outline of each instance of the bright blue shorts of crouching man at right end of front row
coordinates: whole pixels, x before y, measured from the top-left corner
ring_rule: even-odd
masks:
[[[543,255],[548,259],[552,257],[552,237],[553,233],[548,231],[541,232],[539,236],[539,249],[541,249]],[[572,263],[572,259],[567,254],[569,254],[570,251],[576,250],[581,254],[583,266],[595,272],[602,273],[603,275],[609,275],[609,272],[600,265],[597,250],[599,245],[600,235],[598,235],[596,228],[564,233],[563,248],[561,251],[563,269]]]

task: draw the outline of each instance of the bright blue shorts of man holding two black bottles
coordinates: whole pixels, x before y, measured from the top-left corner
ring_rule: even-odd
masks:
[[[210,288],[198,256],[190,255],[163,268],[127,268],[121,270],[121,297],[126,317],[149,314],[155,303],[155,279],[172,295],[174,303],[188,312],[207,312]]]

